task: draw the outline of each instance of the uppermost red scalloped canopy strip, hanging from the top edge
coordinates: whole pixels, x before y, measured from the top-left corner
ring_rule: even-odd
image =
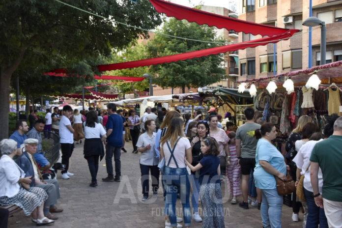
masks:
[[[215,26],[217,28],[227,28],[228,30],[235,30],[236,32],[243,31],[245,33],[252,33],[254,35],[260,34],[262,36],[272,36],[279,35],[288,30],[296,29],[286,29],[277,28],[273,26],[267,26],[262,24],[257,24],[248,21],[242,21],[235,18],[230,18],[226,16],[221,16],[202,10],[186,7],[183,5],[178,5],[164,0],[149,0],[155,9],[159,13],[165,13],[168,17],[175,17],[178,20],[186,19],[189,22],[196,22],[199,25]]]

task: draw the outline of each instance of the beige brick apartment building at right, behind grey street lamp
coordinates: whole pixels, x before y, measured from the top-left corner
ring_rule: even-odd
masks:
[[[238,81],[306,69],[309,66],[309,31],[302,26],[309,18],[309,0],[240,0],[239,19],[280,28],[303,29],[288,40],[239,50]],[[312,0],[313,16],[324,21],[327,28],[326,63],[342,60],[342,0]],[[312,66],[320,64],[320,28],[313,27]],[[238,41],[261,38],[261,35],[239,32]]]

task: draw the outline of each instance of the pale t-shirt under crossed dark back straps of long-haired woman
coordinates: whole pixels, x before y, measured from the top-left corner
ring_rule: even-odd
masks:
[[[171,143],[169,142],[169,145],[171,147]],[[176,145],[176,148],[173,150],[173,156],[177,161],[178,164],[178,168],[185,168],[186,164],[184,162],[184,158],[185,158],[185,151],[187,149],[191,148],[190,142],[187,138],[182,137]],[[173,149],[171,147],[171,149]],[[176,164],[174,163],[173,158],[171,157],[171,152],[169,150],[168,144],[165,142],[163,144],[163,150],[164,150],[164,155],[165,155],[165,165],[167,166],[169,163],[169,160],[171,158],[171,162],[169,167],[170,168],[177,168]]]

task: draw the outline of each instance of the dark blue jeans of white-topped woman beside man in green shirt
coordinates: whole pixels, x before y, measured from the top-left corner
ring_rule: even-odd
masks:
[[[325,217],[324,209],[317,207],[314,202],[314,193],[304,188],[305,198],[308,205],[307,228],[328,228],[327,218]]]

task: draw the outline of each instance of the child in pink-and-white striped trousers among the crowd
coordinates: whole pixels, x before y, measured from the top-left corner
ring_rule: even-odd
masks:
[[[233,198],[231,199],[231,204],[236,204],[236,197],[241,196],[240,189],[240,165],[238,163],[237,155],[236,155],[236,146],[235,146],[235,132],[231,131],[228,133],[228,137],[230,141],[229,151],[230,151],[230,165],[226,167],[226,174],[228,188],[230,189],[230,194],[233,194]]]

